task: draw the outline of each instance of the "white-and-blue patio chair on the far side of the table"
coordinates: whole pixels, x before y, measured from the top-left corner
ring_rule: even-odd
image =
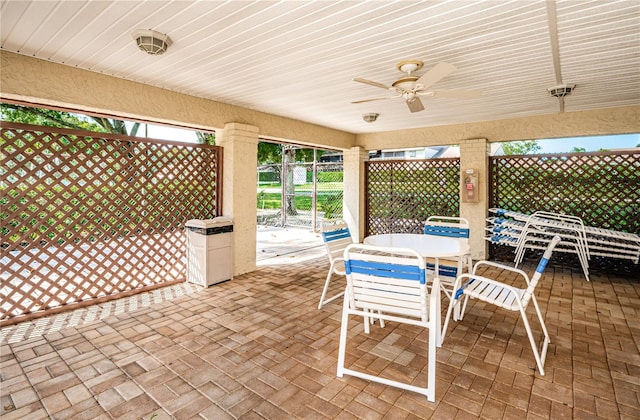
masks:
[[[469,243],[469,221],[464,217],[429,216],[424,224],[425,235],[448,236],[458,238]],[[471,254],[456,259],[440,259],[438,261],[438,276],[440,288],[451,299],[453,283],[462,274],[463,260],[466,260],[467,272],[471,271]],[[427,262],[427,270],[435,272],[435,264]]]

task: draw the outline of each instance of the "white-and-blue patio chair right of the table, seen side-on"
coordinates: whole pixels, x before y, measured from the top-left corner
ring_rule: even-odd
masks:
[[[454,313],[454,320],[457,320],[456,312],[458,311],[453,311],[452,309],[454,306],[460,304],[460,298],[463,296],[464,301],[462,302],[462,308],[459,311],[459,320],[462,320],[464,317],[464,312],[467,308],[467,302],[469,301],[469,298],[479,299],[483,302],[499,306],[508,311],[520,312],[520,315],[522,316],[522,322],[524,323],[524,327],[527,330],[527,336],[529,337],[531,350],[533,350],[533,356],[535,357],[536,364],[538,365],[538,370],[540,371],[540,375],[544,376],[544,362],[547,358],[547,348],[551,340],[549,339],[549,333],[547,332],[547,327],[544,324],[544,319],[542,318],[540,307],[538,306],[538,302],[536,301],[535,288],[538,285],[540,278],[542,277],[542,273],[547,267],[547,263],[549,262],[551,254],[553,252],[553,248],[555,248],[555,246],[559,242],[559,236],[555,236],[551,240],[549,246],[544,251],[542,259],[538,263],[536,272],[533,274],[531,279],[529,279],[529,276],[522,270],[491,261],[478,261],[473,267],[472,274],[462,274],[461,276],[459,276],[454,284],[455,294],[453,296],[453,299],[451,299],[451,302],[449,302],[449,309],[447,309],[447,317],[444,321],[444,327],[442,329],[442,341],[444,341],[447,327],[449,325],[449,318],[451,317],[452,312]],[[502,283],[498,280],[476,275],[475,273],[476,271],[478,271],[478,267],[483,265],[488,265],[520,274],[524,278],[526,287],[520,289]],[[527,319],[526,311],[529,302],[533,302],[533,306],[535,307],[536,314],[538,315],[538,320],[540,321],[540,325],[542,327],[542,333],[544,335],[540,350],[538,350],[539,346],[533,338],[533,333]]]

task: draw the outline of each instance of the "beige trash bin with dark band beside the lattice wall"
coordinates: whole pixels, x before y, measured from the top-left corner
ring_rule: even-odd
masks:
[[[233,222],[192,219],[187,231],[187,281],[203,287],[233,278]]]

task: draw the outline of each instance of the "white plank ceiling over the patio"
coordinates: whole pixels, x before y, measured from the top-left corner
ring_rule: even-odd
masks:
[[[0,16],[6,51],[353,133],[554,114],[561,83],[565,111],[640,104],[638,0],[2,0]],[[137,29],[173,44],[147,55]],[[417,76],[451,63],[432,89],[482,96],[351,103],[387,94],[352,78],[391,85],[406,59]]]

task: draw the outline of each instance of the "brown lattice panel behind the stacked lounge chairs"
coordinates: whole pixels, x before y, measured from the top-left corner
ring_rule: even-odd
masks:
[[[589,226],[640,232],[640,152],[497,156],[490,207],[582,218]]]

